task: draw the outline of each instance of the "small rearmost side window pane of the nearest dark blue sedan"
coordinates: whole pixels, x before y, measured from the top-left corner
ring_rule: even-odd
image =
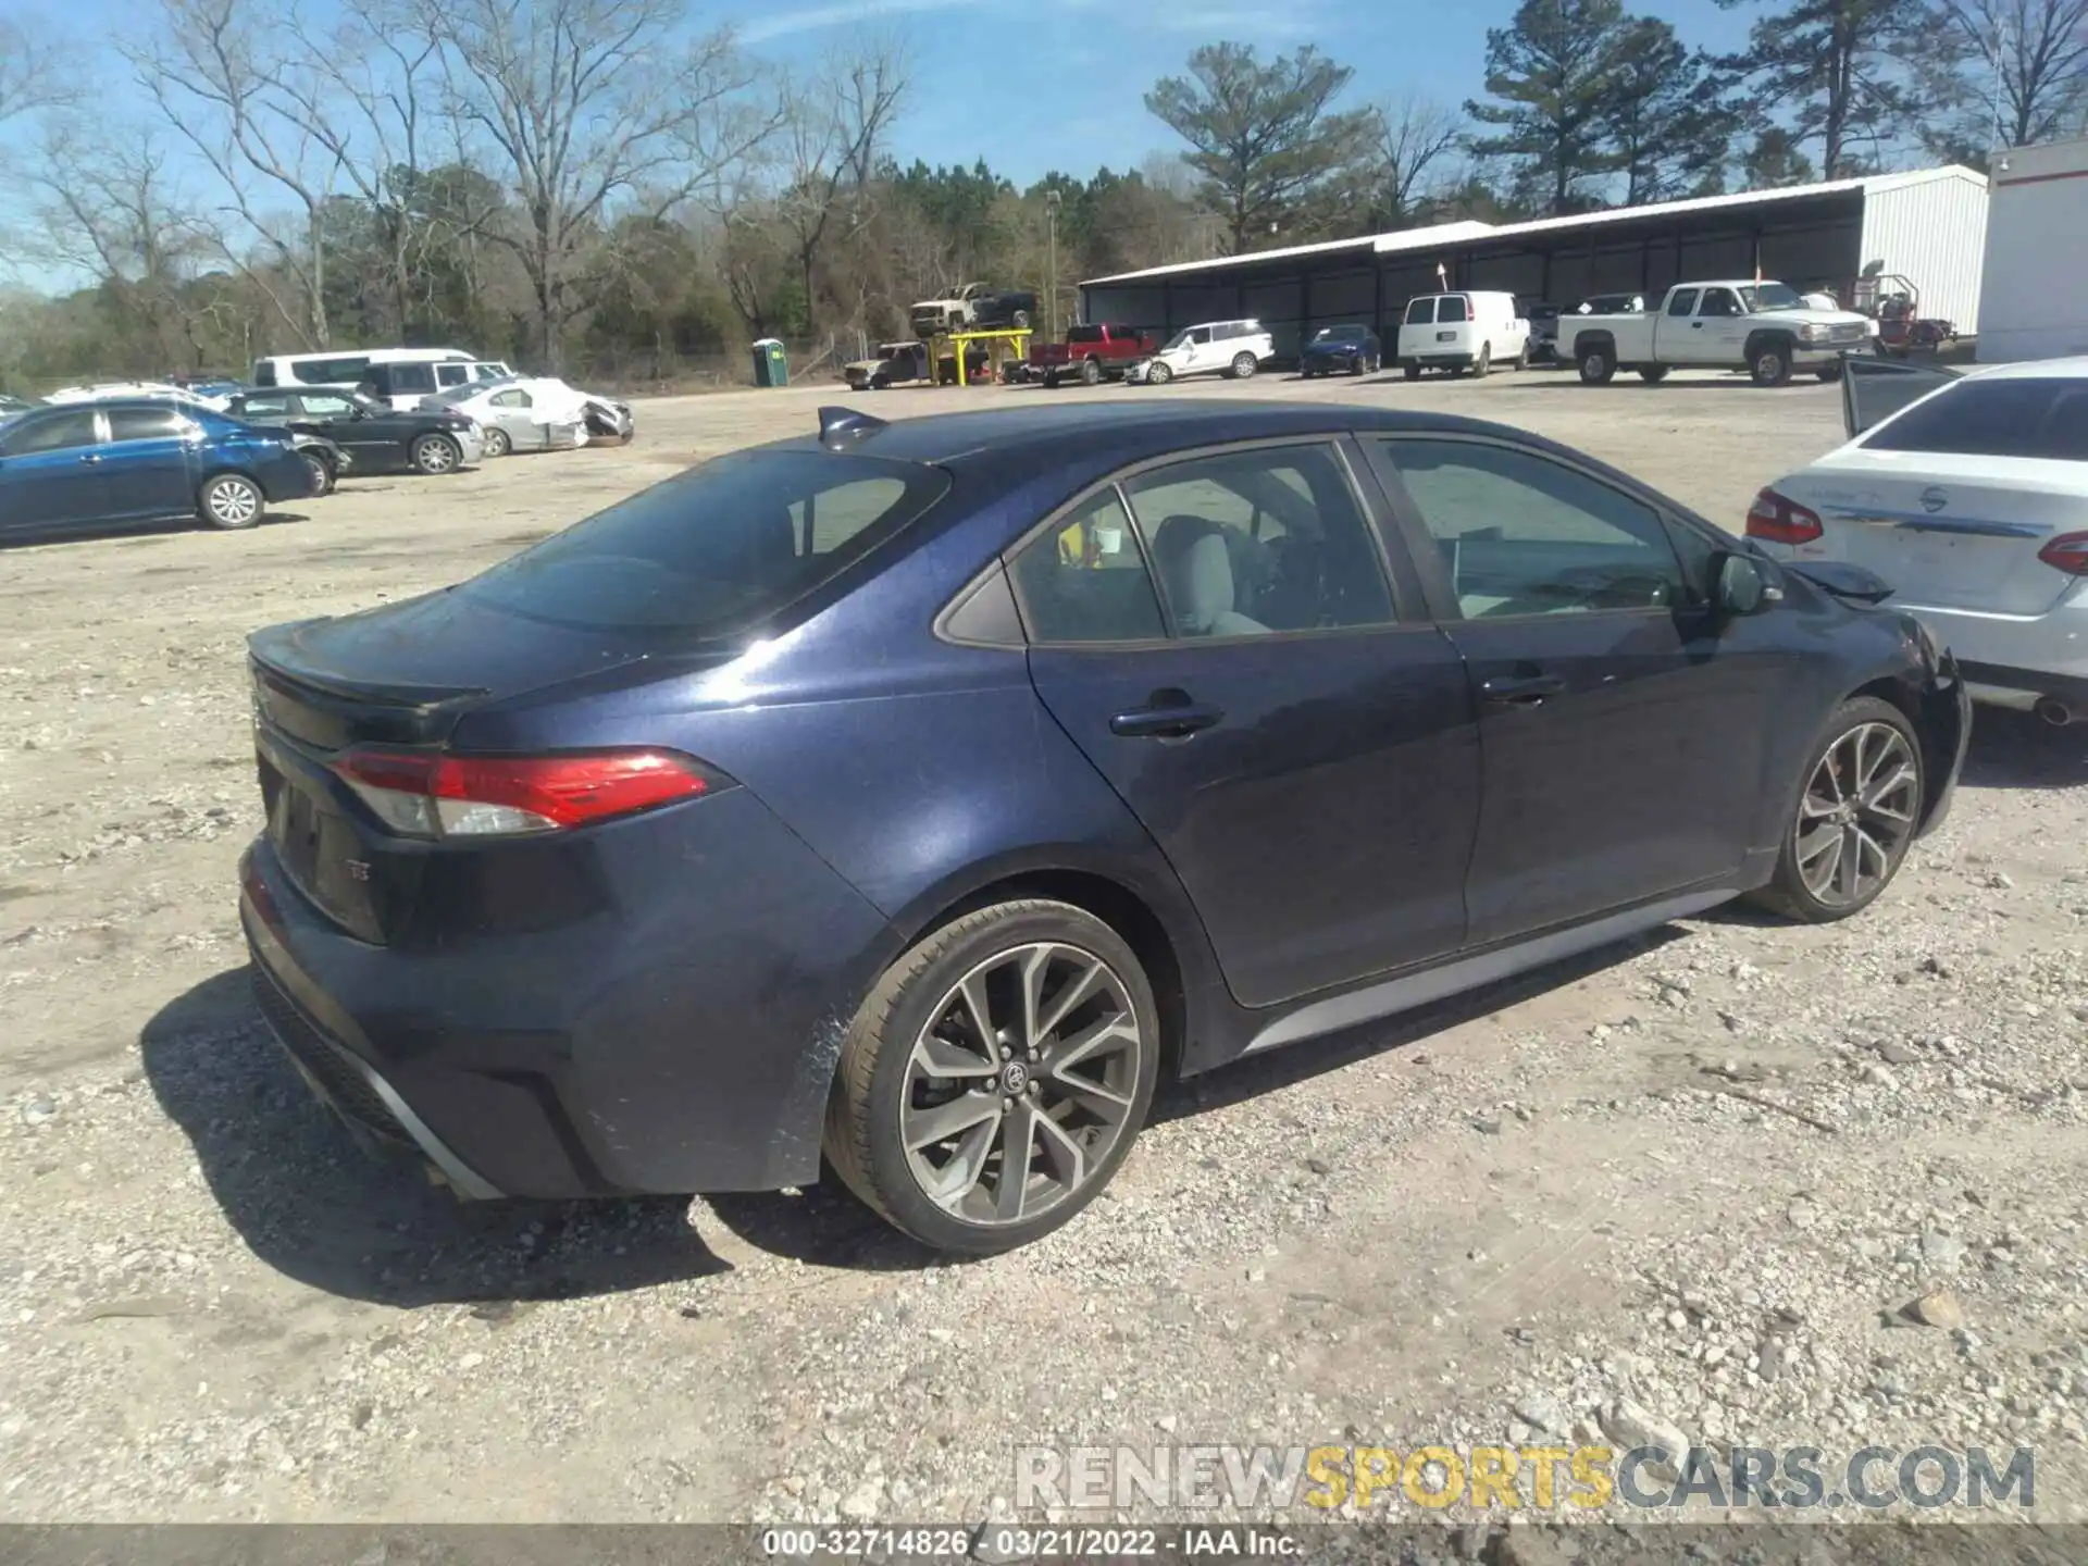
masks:
[[[1038,643],[1159,641],[1161,606],[1115,487],[1040,532],[1011,562],[1023,628]]]

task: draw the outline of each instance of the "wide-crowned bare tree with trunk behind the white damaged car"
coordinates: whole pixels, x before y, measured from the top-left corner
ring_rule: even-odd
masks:
[[[557,370],[606,213],[660,217],[714,188],[775,115],[750,109],[729,31],[677,38],[681,0],[426,0],[422,15],[449,111],[516,186],[526,226],[493,238],[528,274]]]

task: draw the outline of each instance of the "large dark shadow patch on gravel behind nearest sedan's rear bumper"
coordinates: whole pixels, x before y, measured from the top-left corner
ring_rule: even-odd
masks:
[[[363,1155],[284,1059],[248,986],[246,967],[205,979],[138,1042],[217,1205],[284,1276],[378,1305],[497,1315],[729,1272],[689,1226],[687,1199],[459,1203],[411,1163]]]

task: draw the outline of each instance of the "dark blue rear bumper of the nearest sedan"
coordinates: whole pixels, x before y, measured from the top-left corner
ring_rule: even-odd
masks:
[[[455,885],[430,894],[453,904],[453,935],[401,946],[324,919],[257,841],[240,923],[301,1075],[365,1146],[418,1157],[466,1196],[814,1180],[887,923],[745,789],[589,837],[585,864],[564,867],[585,889],[551,887],[543,854],[497,875],[459,867],[509,906],[507,927],[455,906]]]

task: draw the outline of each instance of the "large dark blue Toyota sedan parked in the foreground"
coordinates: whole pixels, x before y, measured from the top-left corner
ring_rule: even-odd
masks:
[[[821,418],[253,637],[259,1002],[468,1196],[825,1153],[1006,1249],[1161,1075],[1737,896],[1848,917],[1956,783],[1965,685],[1875,578],[1520,430]]]

